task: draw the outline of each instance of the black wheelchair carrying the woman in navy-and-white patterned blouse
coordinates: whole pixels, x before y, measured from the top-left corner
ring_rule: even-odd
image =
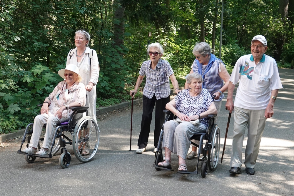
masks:
[[[173,113],[171,113],[171,111],[163,110],[163,112],[166,113],[164,124],[166,123],[166,121],[174,119],[174,115]],[[198,153],[197,153],[196,170],[194,172],[178,171],[178,173],[198,174],[198,164],[199,164],[199,158],[201,154],[203,155],[203,158],[201,160],[201,176],[203,178],[206,177],[208,168],[211,171],[216,169],[216,166],[218,164],[219,151],[220,151],[220,128],[218,127],[217,124],[214,123],[214,118],[216,116],[217,116],[216,114],[208,115],[208,119],[209,119],[208,127],[205,133],[196,133],[191,137],[191,139],[199,140],[199,145],[195,144],[194,142],[191,142],[193,145],[199,147]],[[164,159],[164,149],[162,148],[163,126],[159,135],[159,141],[158,141],[157,150],[155,153],[155,161],[153,163],[153,167],[155,167],[157,171],[162,169],[171,170],[168,168],[157,166],[157,164],[159,162],[162,162]],[[203,147],[204,140],[207,140],[208,142],[206,142],[205,146]],[[208,157],[206,156],[207,152],[208,152]]]

